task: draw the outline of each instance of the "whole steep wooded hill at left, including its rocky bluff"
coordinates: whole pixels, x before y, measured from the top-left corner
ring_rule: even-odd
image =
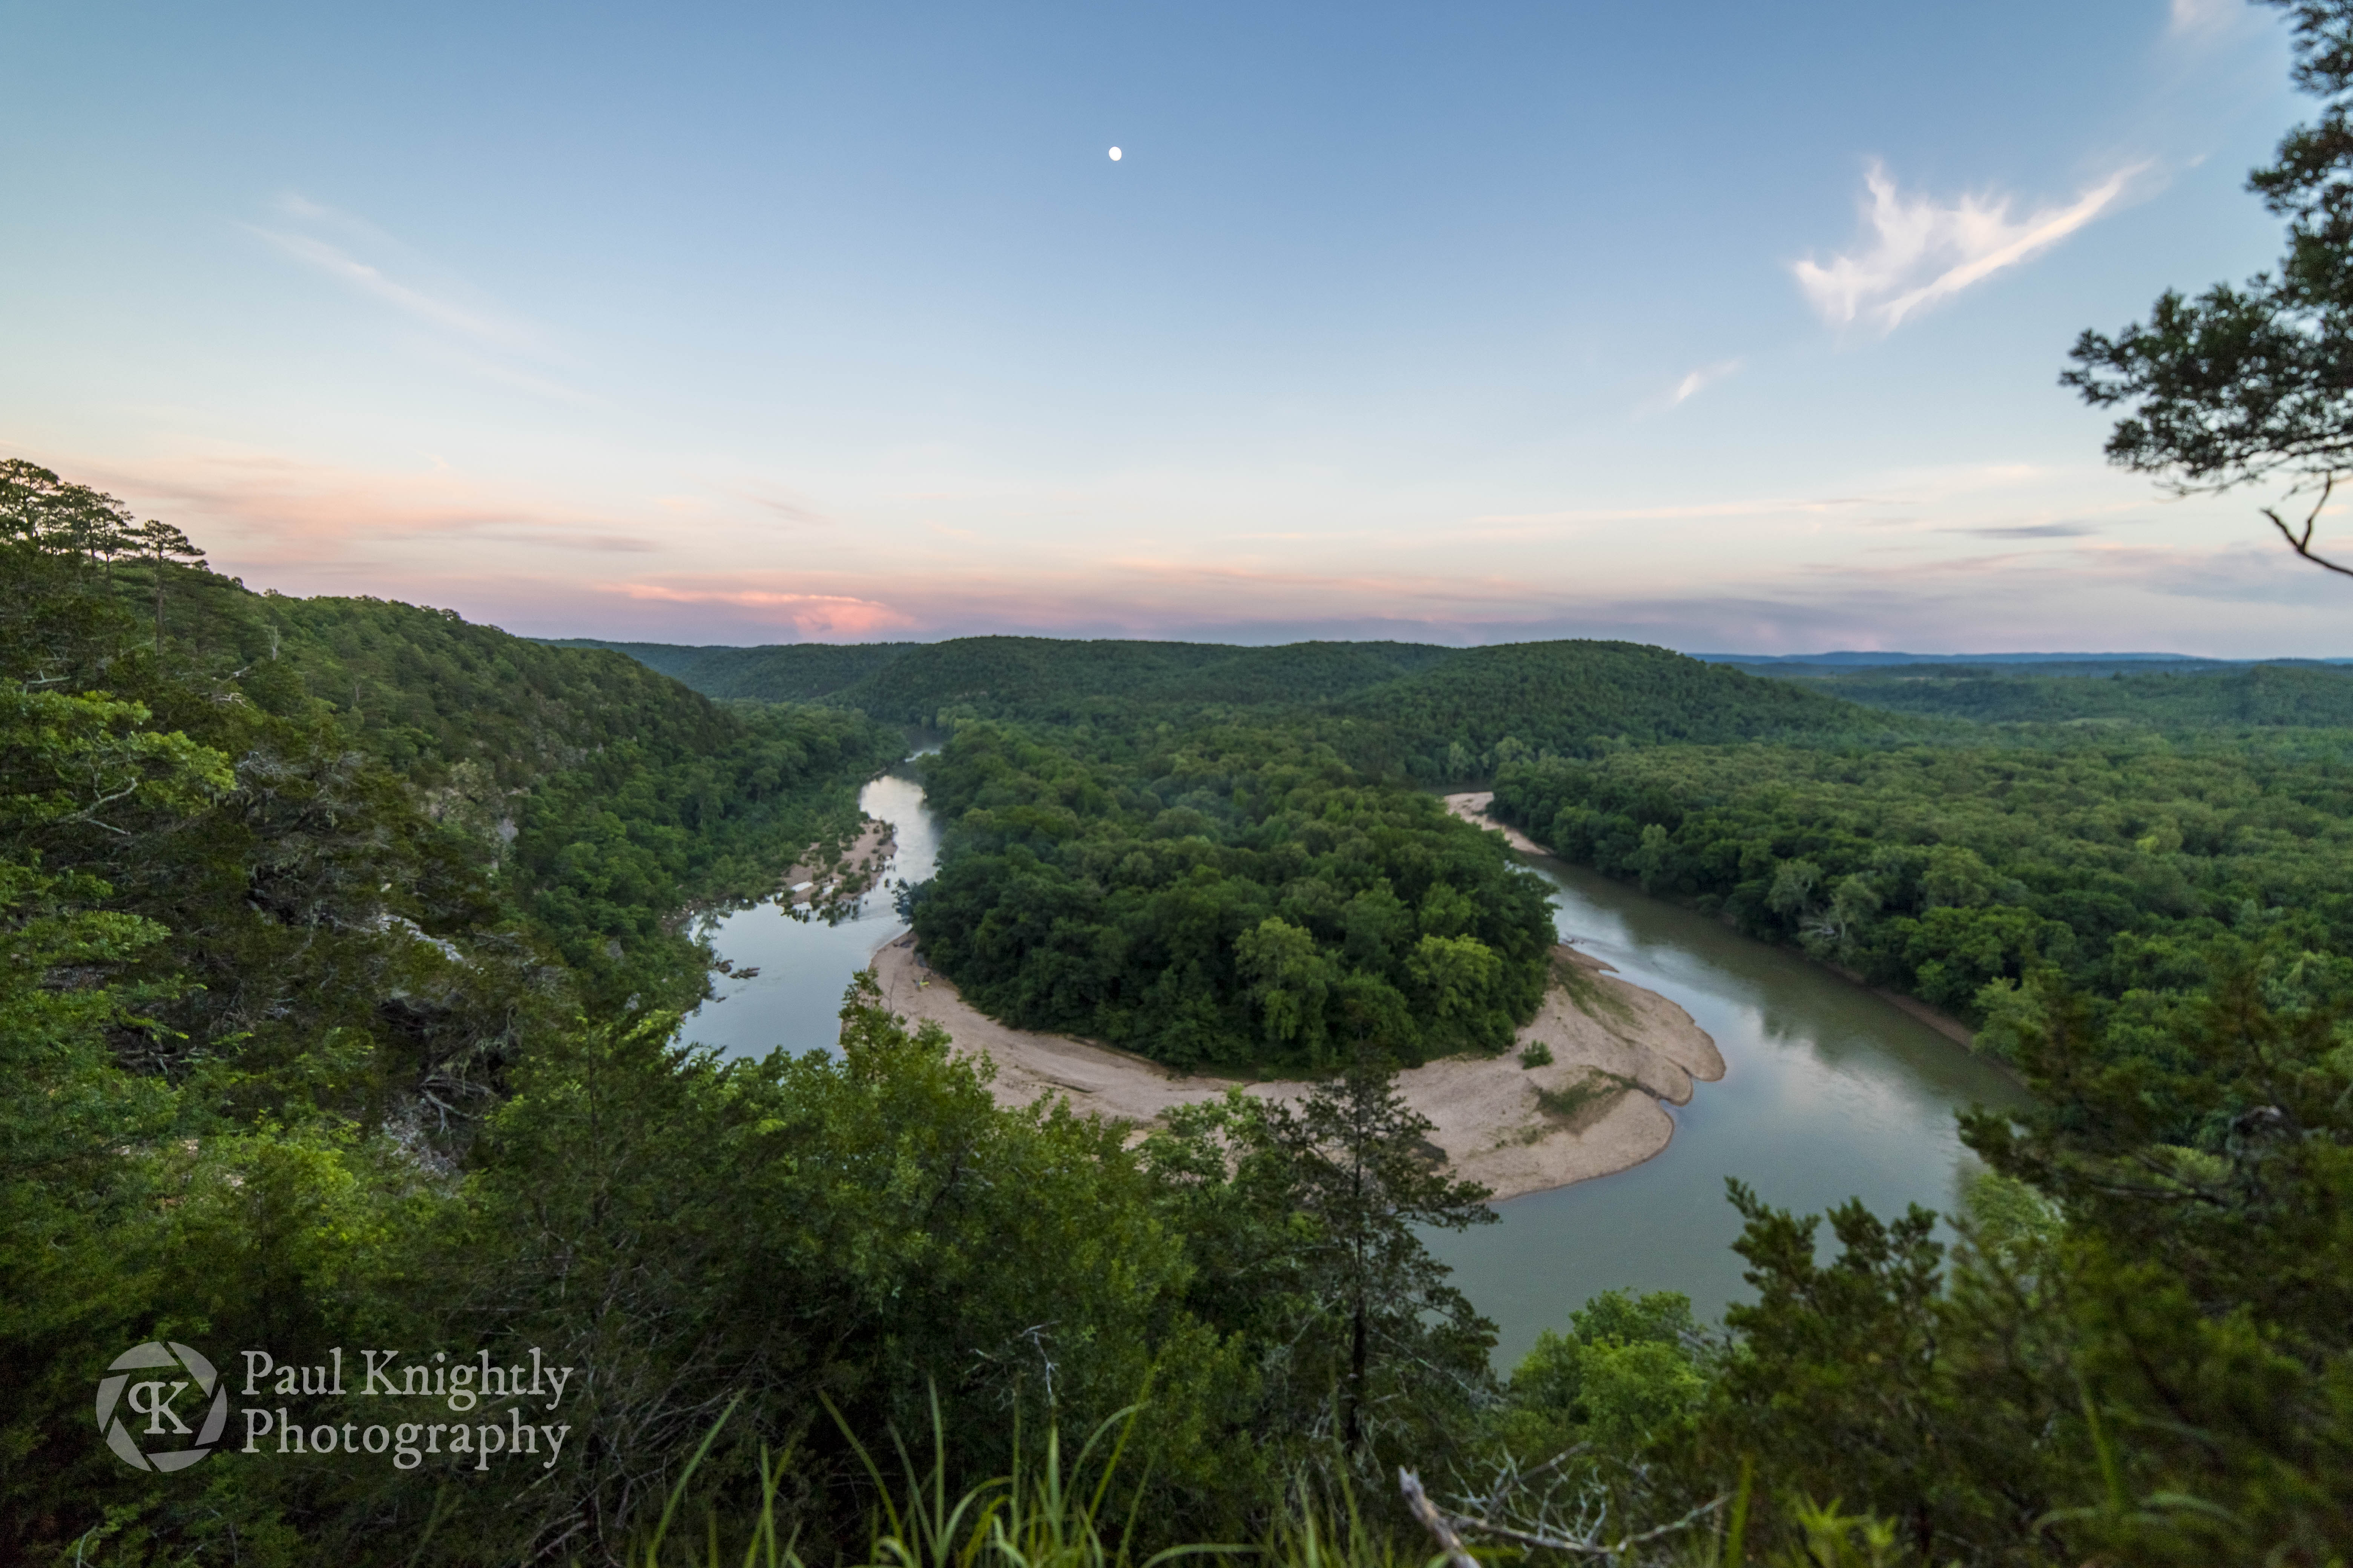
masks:
[[[127,512],[31,463],[0,465],[0,520],[9,677],[129,698],[144,712],[115,722],[132,733],[226,757],[231,783],[188,820],[89,842],[125,910],[200,933],[207,990],[174,1023],[195,1041],[254,1034],[240,997],[318,997],[376,971],[348,999],[365,1009],[360,992],[391,985],[374,957],[346,954],[334,980],[266,957],[285,922],[362,945],[407,922],[454,950],[511,922],[560,961],[562,994],[687,1006],[708,954],[682,933],[685,905],[767,891],[854,825],[856,783],[901,750],[854,712],[736,712],[619,654],[452,611],[252,592],[184,538],[141,559]]]

